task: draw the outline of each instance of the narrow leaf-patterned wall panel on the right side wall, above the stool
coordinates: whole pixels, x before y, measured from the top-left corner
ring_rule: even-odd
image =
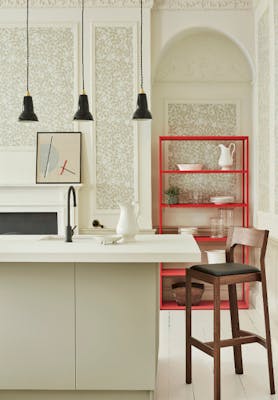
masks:
[[[269,11],[258,23],[258,185],[259,211],[269,211]]]

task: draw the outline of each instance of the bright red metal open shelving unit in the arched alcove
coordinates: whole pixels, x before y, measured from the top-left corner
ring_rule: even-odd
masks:
[[[163,144],[166,141],[237,141],[242,144],[242,157],[241,157],[241,166],[240,169],[232,169],[232,170],[169,170],[163,168]],[[236,203],[225,203],[225,204],[213,204],[213,203],[179,203],[179,204],[166,204],[163,201],[163,193],[164,193],[164,185],[163,178],[164,176],[170,174],[238,174],[241,176],[241,201]],[[182,208],[192,208],[192,209],[215,209],[215,208],[236,208],[241,210],[241,225],[248,227],[249,226],[249,147],[248,147],[248,136],[160,136],[159,137],[159,233],[164,233],[164,229],[166,227],[163,225],[163,213],[166,209],[182,209]],[[201,236],[195,235],[195,240],[198,243],[225,243],[226,237],[223,238],[211,238],[209,236]],[[247,262],[248,260],[248,251],[244,249],[242,252],[243,261]],[[163,268],[161,264],[160,271],[160,308],[162,310],[183,310],[183,306],[179,306],[175,301],[163,301],[163,293],[162,293],[162,282],[164,277],[183,277],[186,275],[185,269],[175,269],[175,268]],[[239,308],[248,308],[249,307],[249,285],[244,284],[242,287],[242,299],[238,301]],[[194,309],[202,309],[209,310],[213,308],[212,301],[201,301],[200,305],[194,306]],[[228,301],[223,300],[221,302],[222,309],[228,309],[229,303]]]

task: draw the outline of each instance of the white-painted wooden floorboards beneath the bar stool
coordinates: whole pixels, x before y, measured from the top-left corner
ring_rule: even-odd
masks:
[[[264,333],[264,321],[256,310],[240,310],[241,328]],[[275,379],[278,385],[278,326],[272,324]],[[213,313],[193,311],[193,336],[213,338]],[[231,337],[230,313],[221,312],[221,337]],[[185,313],[161,311],[160,348],[156,400],[213,400],[213,359],[193,348],[191,385],[185,384]],[[221,350],[222,400],[278,400],[269,393],[266,350],[259,344],[243,346],[244,374],[234,373],[232,348]]]

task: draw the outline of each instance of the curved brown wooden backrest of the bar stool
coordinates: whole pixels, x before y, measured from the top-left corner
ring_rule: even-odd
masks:
[[[234,260],[234,248],[236,245],[250,246],[260,249],[261,269],[265,269],[265,252],[268,241],[268,230],[243,228],[235,226],[228,231],[226,257],[228,262]]]

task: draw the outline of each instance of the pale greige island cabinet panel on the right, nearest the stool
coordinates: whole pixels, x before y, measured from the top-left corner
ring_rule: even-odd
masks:
[[[77,389],[154,390],[157,323],[158,265],[77,265]]]

